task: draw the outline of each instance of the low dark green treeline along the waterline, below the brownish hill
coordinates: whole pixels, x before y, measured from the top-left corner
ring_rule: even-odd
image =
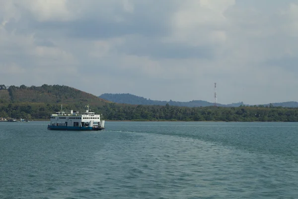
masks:
[[[0,106],[0,117],[49,119],[50,114],[59,111],[60,104],[9,103]],[[85,109],[81,103],[65,104],[63,109]],[[107,103],[91,106],[92,111],[103,114],[107,120],[180,120],[180,121],[298,121],[298,108],[284,107],[179,107],[166,104],[119,105]]]

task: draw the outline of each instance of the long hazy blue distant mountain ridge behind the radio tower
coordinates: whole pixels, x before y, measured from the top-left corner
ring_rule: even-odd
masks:
[[[99,98],[112,101],[115,103],[127,103],[127,104],[142,104],[142,105],[174,105],[174,106],[186,106],[186,107],[199,107],[199,106],[212,106],[214,103],[203,101],[203,100],[192,100],[187,102],[181,101],[159,101],[159,100],[150,100],[143,97],[135,96],[132,94],[102,94]],[[217,103],[218,106],[224,107],[237,107],[240,105],[244,105],[243,102],[231,103],[231,104],[220,104]]]

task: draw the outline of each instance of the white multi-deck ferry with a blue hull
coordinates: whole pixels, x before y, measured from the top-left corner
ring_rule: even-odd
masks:
[[[51,114],[49,130],[103,130],[104,120],[100,120],[100,115],[89,110],[65,110],[56,114]]]

